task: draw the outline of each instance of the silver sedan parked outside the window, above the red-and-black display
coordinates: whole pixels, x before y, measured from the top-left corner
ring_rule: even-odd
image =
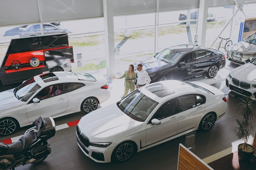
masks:
[[[72,31],[61,29],[51,23],[43,23],[43,31],[44,34],[58,34],[58,33],[72,33]],[[28,25],[25,28],[19,28],[19,36],[20,37],[29,37],[29,36],[38,36],[41,35],[41,25],[40,24],[32,24]]]

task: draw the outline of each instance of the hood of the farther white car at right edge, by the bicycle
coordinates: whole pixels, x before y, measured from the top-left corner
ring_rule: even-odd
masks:
[[[256,45],[249,44],[247,42],[239,42],[231,46],[232,51],[242,53],[256,53]]]

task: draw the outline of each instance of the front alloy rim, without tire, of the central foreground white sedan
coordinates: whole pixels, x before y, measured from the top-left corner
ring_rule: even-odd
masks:
[[[116,159],[118,161],[126,161],[133,154],[133,145],[131,143],[123,143],[116,150]]]

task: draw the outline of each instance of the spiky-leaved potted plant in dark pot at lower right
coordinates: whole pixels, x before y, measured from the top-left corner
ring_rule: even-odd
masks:
[[[255,104],[254,100],[250,101],[250,97],[244,96],[244,99],[238,104],[237,113],[239,117],[236,118],[236,126],[233,128],[237,138],[243,140],[244,143],[238,145],[238,159],[240,161],[248,162],[251,160],[254,148],[249,145],[248,139],[251,131],[254,129],[253,118],[255,116]]]

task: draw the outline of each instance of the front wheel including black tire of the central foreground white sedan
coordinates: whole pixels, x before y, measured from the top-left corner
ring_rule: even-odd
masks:
[[[125,141],[117,145],[117,147],[113,150],[111,160],[113,162],[124,162],[130,159],[137,151],[135,144],[130,141]]]

